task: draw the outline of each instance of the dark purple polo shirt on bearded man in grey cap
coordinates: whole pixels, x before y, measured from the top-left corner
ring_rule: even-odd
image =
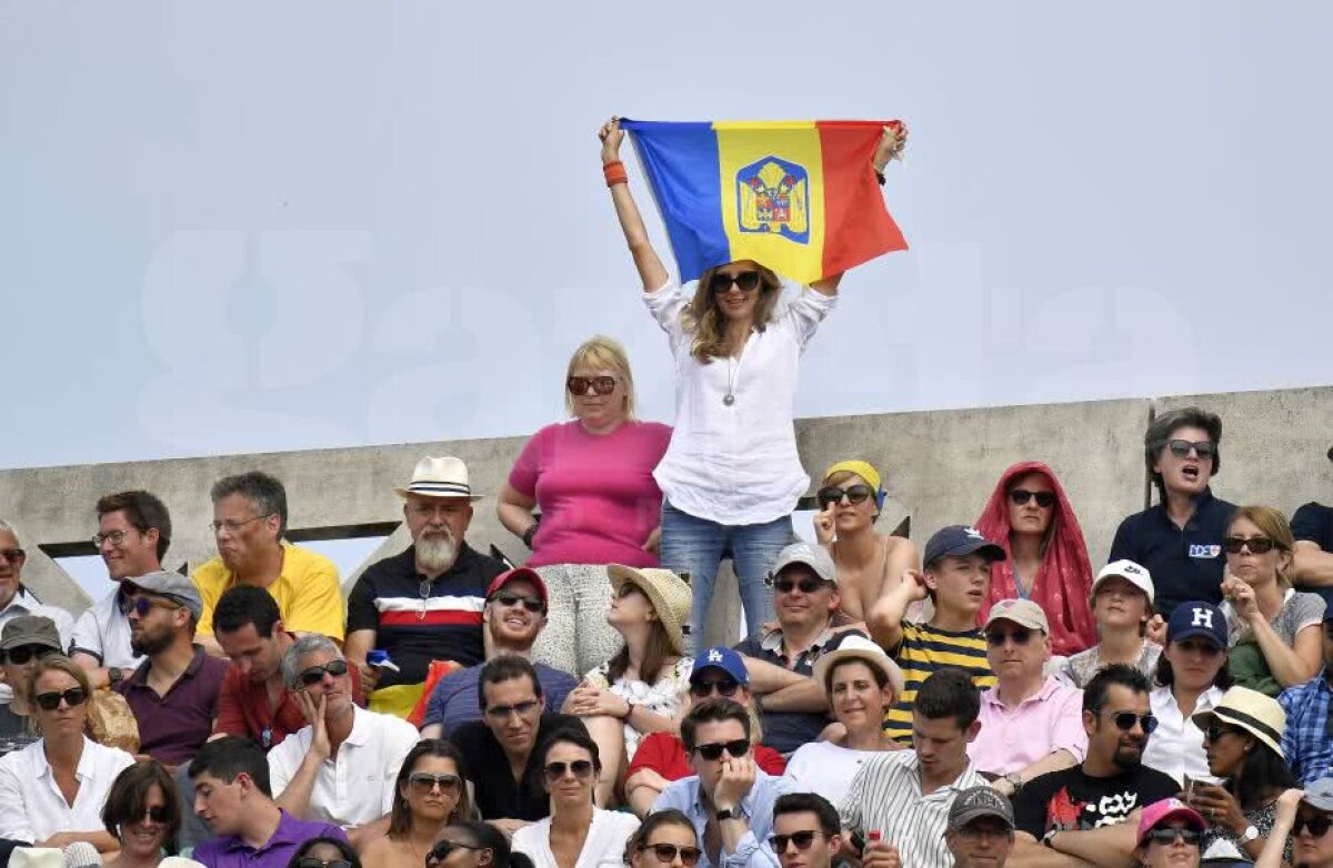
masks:
[[[165,696],[148,686],[152,660],[116,684],[139,722],[139,750],[165,765],[180,765],[195,758],[213,734],[217,695],[227,678],[227,660],[212,658],[195,646],[195,659],[185,667]]]

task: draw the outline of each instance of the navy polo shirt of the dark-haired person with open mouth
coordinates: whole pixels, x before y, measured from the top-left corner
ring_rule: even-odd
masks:
[[[1226,551],[1222,538],[1236,511],[1234,503],[1218,501],[1209,489],[1194,502],[1194,514],[1184,529],[1158,503],[1130,515],[1116,530],[1110,560],[1128,558],[1153,574],[1153,608],[1170,620],[1177,603],[1222,602]]]

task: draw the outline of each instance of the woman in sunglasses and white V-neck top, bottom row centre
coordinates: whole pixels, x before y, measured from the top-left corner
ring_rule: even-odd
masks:
[[[552,732],[541,752],[541,784],[551,796],[551,816],[513,833],[513,849],[537,868],[595,868],[620,865],[625,841],[639,828],[639,817],[603,811],[592,803],[601,771],[597,746],[585,732]]]

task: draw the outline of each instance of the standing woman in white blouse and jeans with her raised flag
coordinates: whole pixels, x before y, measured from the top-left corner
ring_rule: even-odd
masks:
[[[736,570],[749,635],[757,638],[773,616],[764,579],[792,541],[792,510],[809,487],[792,426],[800,357],[833,309],[842,272],[906,246],[876,185],[906,129],[625,128],[636,134],[681,280],[698,280],[688,294],[653,250],[620,161],[625,130],[613,117],[599,133],[603,170],[644,302],[676,359],[676,427],[653,475],[664,494],[661,564],[692,584],[686,639],[697,651],[724,556]],[[718,168],[734,168],[736,154],[757,160],[736,172],[733,196],[721,189]],[[750,253],[809,288],[780,306],[778,276]]]

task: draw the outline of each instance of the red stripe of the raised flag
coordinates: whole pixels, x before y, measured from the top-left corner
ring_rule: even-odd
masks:
[[[840,274],[884,253],[906,250],[908,242],[884,205],[870,164],[884,124],[816,121],[816,126],[824,153],[824,274]]]

